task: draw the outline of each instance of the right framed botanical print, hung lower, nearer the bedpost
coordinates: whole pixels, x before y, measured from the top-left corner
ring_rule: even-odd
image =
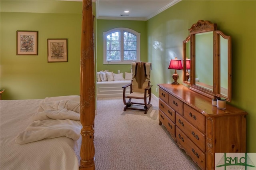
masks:
[[[68,39],[47,39],[48,63],[68,62]]]

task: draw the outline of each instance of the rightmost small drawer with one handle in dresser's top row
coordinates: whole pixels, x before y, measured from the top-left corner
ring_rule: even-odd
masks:
[[[202,113],[184,104],[183,117],[202,132],[205,132],[205,116]]]

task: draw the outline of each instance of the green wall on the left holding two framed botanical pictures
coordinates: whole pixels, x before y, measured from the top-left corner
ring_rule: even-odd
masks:
[[[82,2],[0,3],[2,99],[79,95]],[[38,55],[16,55],[17,30],[38,31]],[[68,62],[47,62],[48,38],[68,39]]]

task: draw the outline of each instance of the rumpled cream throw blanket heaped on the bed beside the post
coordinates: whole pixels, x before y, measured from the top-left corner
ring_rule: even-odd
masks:
[[[80,137],[80,103],[72,100],[42,102],[33,121],[18,134],[15,142],[25,144],[46,138],[66,136],[73,140]]]

